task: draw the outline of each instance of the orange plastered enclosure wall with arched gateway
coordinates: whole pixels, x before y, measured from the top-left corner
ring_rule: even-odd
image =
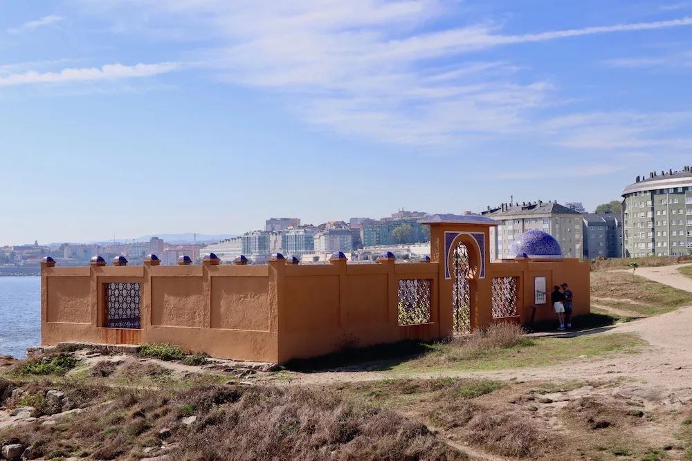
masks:
[[[473,266],[471,325],[492,318],[492,281],[520,278],[518,317],[527,323],[534,305],[534,276],[545,276],[550,290],[567,282],[574,292],[574,314],[590,310],[589,265],[576,260],[489,261],[489,227],[431,225],[430,263],[329,265],[42,267],[42,344],[87,341],[107,344],[175,343],[214,357],[281,362],[313,357],[346,346],[369,346],[401,339],[432,340],[452,332],[452,285],[445,278],[444,232],[482,232],[486,238],[485,277],[481,252],[468,235]],[[456,243],[456,242],[455,242]],[[399,281],[430,279],[430,323],[399,326]],[[103,328],[104,283],[141,284],[141,328]],[[548,299],[548,302],[550,300]],[[538,306],[536,320],[552,319],[550,304]]]

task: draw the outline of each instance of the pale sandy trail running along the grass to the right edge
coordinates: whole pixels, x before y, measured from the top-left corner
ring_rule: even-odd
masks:
[[[646,267],[637,275],[692,292],[692,279],[680,275],[681,267]],[[692,307],[682,308],[658,317],[605,328],[603,333],[632,332],[650,346],[637,354],[611,355],[601,359],[585,358],[556,366],[519,368],[490,372],[437,371],[396,373],[379,371],[334,371],[296,374],[286,384],[334,384],[337,382],[370,381],[392,377],[486,377],[519,381],[558,381],[565,379],[623,379],[621,391],[642,395],[652,403],[675,404],[692,400]]]

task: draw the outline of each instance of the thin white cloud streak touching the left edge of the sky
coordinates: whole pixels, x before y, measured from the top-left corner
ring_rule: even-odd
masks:
[[[122,64],[107,64],[101,68],[65,68],[60,72],[39,73],[29,71],[26,73],[14,73],[0,75],[0,86],[17,86],[28,84],[69,83],[69,82],[95,82],[100,80],[118,80],[136,77],[152,77],[154,75],[180,70],[181,64],[175,62],[163,62],[160,64],[135,64],[123,66]]]

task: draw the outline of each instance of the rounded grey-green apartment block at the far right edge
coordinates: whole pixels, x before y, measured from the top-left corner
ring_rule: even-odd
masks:
[[[692,167],[637,176],[622,197],[624,256],[692,254]]]

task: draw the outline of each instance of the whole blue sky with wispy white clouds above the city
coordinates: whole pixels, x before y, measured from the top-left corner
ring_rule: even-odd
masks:
[[[0,245],[620,197],[692,0],[0,0]]]

